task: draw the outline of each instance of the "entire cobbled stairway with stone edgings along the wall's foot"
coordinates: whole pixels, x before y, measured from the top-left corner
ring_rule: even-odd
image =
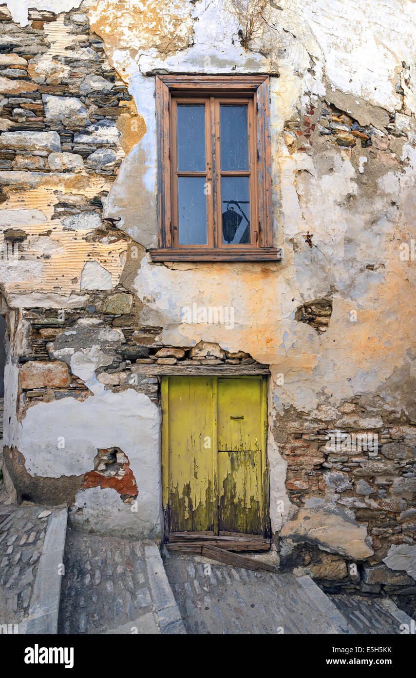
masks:
[[[308,576],[166,549],[162,559],[154,542],[66,531],[66,511],[46,509],[9,504],[0,484],[0,622],[18,633],[56,633],[58,626],[62,634],[377,635],[414,628],[388,598],[325,595]]]

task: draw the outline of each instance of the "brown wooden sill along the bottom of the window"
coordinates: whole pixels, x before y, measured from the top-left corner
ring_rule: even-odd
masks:
[[[186,249],[159,249],[149,250],[152,262],[164,261],[280,261],[282,258],[281,247],[245,247],[236,248],[222,247],[221,250],[186,250]]]

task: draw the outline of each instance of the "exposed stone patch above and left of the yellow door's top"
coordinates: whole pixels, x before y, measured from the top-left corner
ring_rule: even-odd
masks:
[[[231,353],[209,342],[199,342],[193,348],[163,346],[161,327],[128,324],[134,321],[134,302],[133,296],[126,292],[116,292],[111,296],[96,294],[93,302],[87,306],[87,313],[82,309],[66,311],[64,319],[59,311],[36,308],[24,311],[24,319],[30,322],[31,331],[28,331],[30,353],[20,357],[23,411],[27,405],[40,401],[47,402],[68,396],[82,400],[89,395],[89,389],[83,381],[70,376],[65,363],[55,359],[68,342],[72,345],[72,338],[77,336],[75,325],[82,327],[79,321],[87,323],[85,327],[89,326],[89,322],[91,327],[110,325],[117,327],[119,332],[120,342],[112,349],[112,362],[98,369],[98,381],[115,391],[119,387],[136,388],[156,403],[159,403],[159,378],[151,374],[138,374],[135,363],[187,366],[259,365],[249,353]]]

